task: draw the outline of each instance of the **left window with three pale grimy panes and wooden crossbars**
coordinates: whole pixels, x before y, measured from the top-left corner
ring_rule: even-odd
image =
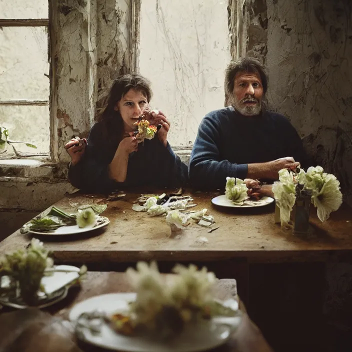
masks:
[[[0,17],[0,126],[37,147],[13,143],[17,156],[48,155],[48,0],[0,1]],[[13,153],[7,144],[5,155]]]

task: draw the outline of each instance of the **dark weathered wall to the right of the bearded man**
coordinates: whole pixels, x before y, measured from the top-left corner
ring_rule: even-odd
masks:
[[[266,64],[270,108],[291,120],[352,204],[352,3],[250,0],[242,11],[240,52]]]

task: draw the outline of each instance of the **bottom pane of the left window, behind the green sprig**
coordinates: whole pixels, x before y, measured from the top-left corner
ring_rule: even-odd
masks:
[[[7,127],[9,139],[35,144],[37,149],[25,144],[14,144],[22,152],[39,153],[49,151],[49,107],[48,106],[2,106],[0,125]],[[12,147],[7,146],[12,152]]]

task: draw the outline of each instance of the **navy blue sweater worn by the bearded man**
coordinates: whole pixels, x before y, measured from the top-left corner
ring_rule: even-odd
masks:
[[[189,179],[197,188],[224,188],[226,176],[244,179],[248,163],[292,156],[302,167],[307,157],[302,141],[283,115],[266,111],[243,116],[232,106],[202,119],[189,162]]]

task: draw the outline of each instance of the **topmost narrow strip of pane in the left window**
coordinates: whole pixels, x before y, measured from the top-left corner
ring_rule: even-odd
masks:
[[[0,0],[0,18],[48,18],[47,0]]]

